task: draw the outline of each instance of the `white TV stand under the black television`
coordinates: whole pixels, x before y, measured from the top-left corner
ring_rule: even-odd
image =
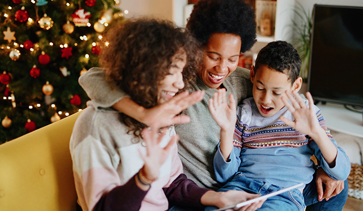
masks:
[[[322,111],[329,130],[363,138],[362,114],[349,111],[342,104],[319,102],[316,105]]]

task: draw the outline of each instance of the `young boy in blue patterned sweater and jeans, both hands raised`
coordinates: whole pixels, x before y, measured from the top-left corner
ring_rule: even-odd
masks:
[[[228,105],[225,89],[209,100],[210,112],[221,128],[214,156],[215,176],[219,182],[227,182],[218,191],[265,195],[308,184],[315,172],[312,155],[331,178],[348,177],[349,158],[332,139],[311,94],[307,92],[306,100],[297,93],[302,83],[300,67],[301,60],[291,44],[271,42],[251,68],[253,97],[238,106],[237,116],[235,100],[229,95]],[[270,197],[258,210],[304,210],[303,188]]]

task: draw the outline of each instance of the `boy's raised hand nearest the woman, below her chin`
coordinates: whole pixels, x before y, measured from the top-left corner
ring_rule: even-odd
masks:
[[[226,99],[226,89],[221,88],[209,99],[209,111],[219,127],[224,131],[234,132],[236,118],[235,100],[232,94],[229,94],[229,105]]]

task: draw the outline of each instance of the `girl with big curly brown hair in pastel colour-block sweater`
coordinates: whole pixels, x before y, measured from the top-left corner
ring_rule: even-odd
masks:
[[[103,47],[100,62],[107,81],[145,108],[170,100],[195,77],[200,58],[196,41],[170,22],[126,21],[116,24],[105,39],[109,46]],[[87,105],[70,142],[82,210],[166,210],[172,204],[224,207],[257,196],[243,191],[223,195],[187,179],[173,126],[158,133],[158,125],[150,130],[125,114],[98,107],[94,100]]]

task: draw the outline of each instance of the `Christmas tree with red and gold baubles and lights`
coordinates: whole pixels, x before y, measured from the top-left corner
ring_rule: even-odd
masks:
[[[119,0],[0,1],[0,144],[86,108],[80,74],[98,66]]]

